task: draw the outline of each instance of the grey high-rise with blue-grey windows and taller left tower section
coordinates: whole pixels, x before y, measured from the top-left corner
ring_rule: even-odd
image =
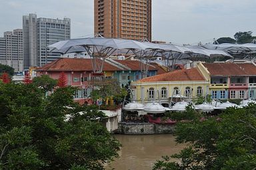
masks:
[[[70,39],[71,19],[37,18],[36,14],[23,16],[24,67],[41,67],[61,57],[51,52],[48,45]]]

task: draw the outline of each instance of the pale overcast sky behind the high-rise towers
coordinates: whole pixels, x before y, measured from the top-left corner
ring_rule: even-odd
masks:
[[[71,18],[71,37],[93,35],[93,0],[0,0],[0,37],[22,28],[22,16]],[[256,0],[152,0],[152,38],[209,43],[237,31],[256,35]]]

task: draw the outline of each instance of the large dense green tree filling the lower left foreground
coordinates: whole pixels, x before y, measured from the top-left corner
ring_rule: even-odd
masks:
[[[103,169],[118,156],[104,113],[75,103],[74,91],[44,97],[35,83],[0,85],[0,169]]]

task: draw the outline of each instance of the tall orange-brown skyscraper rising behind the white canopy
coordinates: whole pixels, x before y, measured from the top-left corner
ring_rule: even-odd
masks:
[[[151,0],[94,0],[94,33],[151,41]]]

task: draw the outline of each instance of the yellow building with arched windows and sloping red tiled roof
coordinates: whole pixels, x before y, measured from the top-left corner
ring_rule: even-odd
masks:
[[[209,72],[202,63],[196,63],[195,67],[135,81],[131,88],[135,101],[148,103],[160,100],[168,107],[171,97],[178,94],[185,97],[209,94]]]

